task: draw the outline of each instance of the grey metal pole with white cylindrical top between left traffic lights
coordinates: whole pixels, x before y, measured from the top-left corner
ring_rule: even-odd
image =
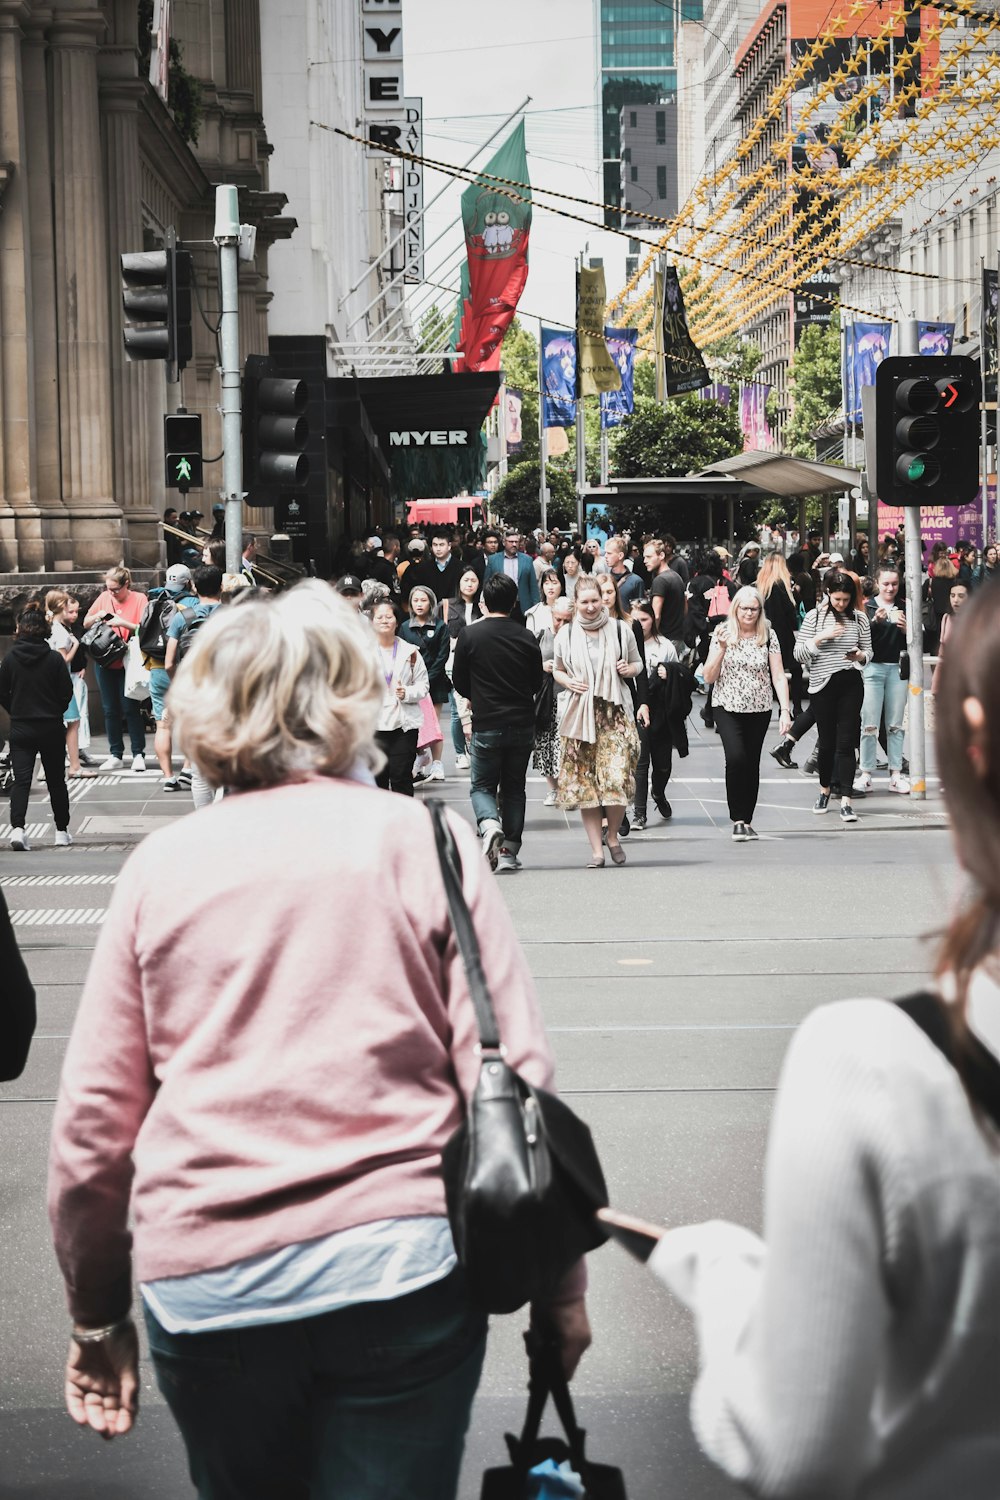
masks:
[[[240,410],[240,198],[216,188],[219,246],[219,350],[222,356],[222,498],[226,507],[226,573],[243,566],[243,418]]]

